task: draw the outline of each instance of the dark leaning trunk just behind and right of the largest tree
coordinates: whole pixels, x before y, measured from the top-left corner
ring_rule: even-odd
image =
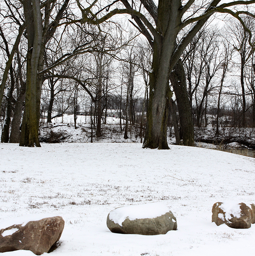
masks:
[[[181,60],[175,65],[174,71],[170,74],[170,81],[175,92],[179,118],[180,118],[180,139],[183,145],[194,146],[194,125],[190,100],[186,88],[185,71]]]

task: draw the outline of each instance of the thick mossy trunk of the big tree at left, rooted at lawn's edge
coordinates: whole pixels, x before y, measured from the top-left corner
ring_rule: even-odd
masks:
[[[33,6],[32,6],[33,3]],[[42,15],[39,0],[23,1],[28,35],[26,69],[25,111],[21,126],[20,146],[41,147],[39,143],[39,116],[42,81],[37,79],[37,71],[42,44]]]

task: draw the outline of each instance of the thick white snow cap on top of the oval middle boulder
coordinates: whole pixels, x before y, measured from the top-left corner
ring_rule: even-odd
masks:
[[[126,218],[129,220],[156,218],[169,212],[166,205],[162,203],[147,203],[142,205],[129,205],[125,207],[118,207],[110,211],[109,219],[114,223],[122,226]]]

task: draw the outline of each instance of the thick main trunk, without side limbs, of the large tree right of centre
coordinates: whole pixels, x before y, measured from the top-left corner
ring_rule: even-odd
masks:
[[[147,126],[144,148],[169,149],[167,144],[167,112],[172,92],[169,89],[170,59],[175,50],[177,24],[180,24],[179,1],[159,1],[157,30],[154,38],[152,72],[150,73],[150,98],[147,109]]]

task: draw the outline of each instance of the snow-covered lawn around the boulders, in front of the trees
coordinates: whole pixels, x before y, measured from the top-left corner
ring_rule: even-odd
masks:
[[[211,209],[217,201],[255,203],[255,159],[198,147],[170,147],[0,144],[0,228],[22,216],[62,216],[62,243],[52,256],[253,255],[255,224],[247,230],[216,226],[211,223]],[[150,202],[161,202],[173,212],[176,231],[142,236],[108,230],[111,210]]]

